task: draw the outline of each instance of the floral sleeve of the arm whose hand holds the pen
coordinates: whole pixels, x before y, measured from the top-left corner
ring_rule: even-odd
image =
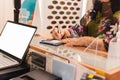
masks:
[[[69,28],[71,37],[80,37],[87,35],[87,24],[91,21],[90,11],[87,11],[83,18],[80,20],[80,25]]]

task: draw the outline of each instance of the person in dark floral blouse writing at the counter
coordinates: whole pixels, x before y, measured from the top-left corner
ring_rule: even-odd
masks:
[[[95,0],[94,6],[88,10],[80,20],[80,25],[75,25],[69,29],[54,28],[51,32],[55,39],[65,43],[66,46],[87,47],[97,39],[90,48],[107,51],[110,40],[116,36],[118,20],[113,16],[116,9],[113,4],[117,0]],[[114,6],[113,6],[114,5]]]

